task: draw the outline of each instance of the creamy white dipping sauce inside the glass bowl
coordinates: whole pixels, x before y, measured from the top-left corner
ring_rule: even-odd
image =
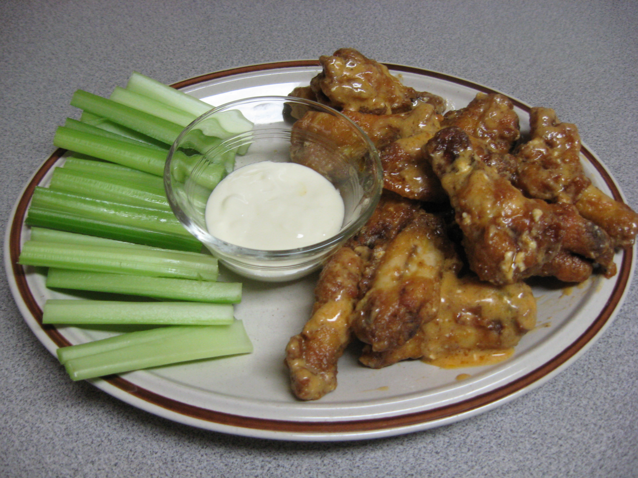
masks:
[[[206,227],[225,242],[260,250],[296,249],[336,235],[343,199],[329,180],[296,163],[262,161],[226,176],[206,204]]]

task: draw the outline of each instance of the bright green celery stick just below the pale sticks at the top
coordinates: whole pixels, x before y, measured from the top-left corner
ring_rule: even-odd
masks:
[[[135,129],[135,131],[151,136],[151,138],[168,145],[172,144],[175,138],[179,136],[179,133],[182,132],[182,129],[184,129],[179,124],[82,90],[78,90],[73,94],[71,106],[104,117],[122,126]]]

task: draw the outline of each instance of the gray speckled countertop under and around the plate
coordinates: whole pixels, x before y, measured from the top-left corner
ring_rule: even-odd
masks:
[[[134,69],[172,83],[346,46],[553,107],[638,206],[635,1],[8,0],[0,18],[3,225],[75,89],[107,95]],[[589,351],[527,395],[429,431],[313,444],[191,428],[71,382],[3,275],[0,476],[638,476],[637,286]]]

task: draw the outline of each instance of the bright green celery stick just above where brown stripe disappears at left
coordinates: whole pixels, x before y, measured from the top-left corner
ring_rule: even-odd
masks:
[[[59,148],[88,154],[145,173],[156,176],[164,174],[167,152],[163,150],[112,140],[64,126],[57,128],[53,143]]]

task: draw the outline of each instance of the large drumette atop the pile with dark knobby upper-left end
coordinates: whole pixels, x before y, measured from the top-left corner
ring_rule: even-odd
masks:
[[[454,207],[470,268],[497,286],[535,275],[560,249],[561,224],[551,206],[525,198],[487,166],[458,127],[426,145],[433,170]]]

